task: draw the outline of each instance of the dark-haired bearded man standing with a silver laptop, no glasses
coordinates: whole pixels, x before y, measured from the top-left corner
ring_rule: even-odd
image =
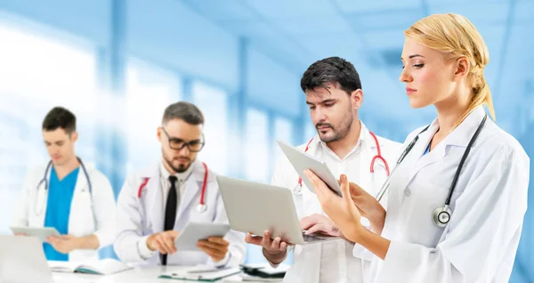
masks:
[[[358,118],[363,92],[352,63],[339,57],[317,61],[304,72],[301,87],[318,134],[299,149],[326,162],[334,175],[347,174],[350,180],[364,184],[369,193],[376,193],[389,174],[389,164],[393,165],[401,153],[401,144],[376,136]],[[287,158],[279,159],[271,183],[293,190],[303,230],[342,236]],[[287,243],[279,238],[271,240],[270,236],[265,231],[263,237],[248,234],[246,240],[262,246],[265,258],[277,265],[287,256]],[[344,239],[296,246],[294,264],[284,280],[362,282],[369,262],[352,256],[353,248],[353,243]]]

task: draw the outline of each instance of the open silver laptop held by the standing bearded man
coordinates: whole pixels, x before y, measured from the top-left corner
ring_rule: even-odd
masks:
[[[263,236],[264,230],[270,230],[272,239],[280,237],[296,245],[339,239],[303,233],[291,190],[223,176],[217,176],[217,182],[233,230],[258,236]]]

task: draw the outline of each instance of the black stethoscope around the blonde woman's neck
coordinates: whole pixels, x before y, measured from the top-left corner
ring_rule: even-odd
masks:
[[[486,119],[487,118],[488,118],[488,115],[486,115],[486,116],[484,116],[484,118],[482,118],[481,124],[478,126],[478,128],[474,132],[473,137],[471,138],[471,141],[469,141],[469,143],[467,144],[467,148],[465,148],[464,155],[462,156],[462,159],[460,159],[460,164],[457,166],[457,171],[454,174],[454,178],[452,179],[452,183],[450,184],[449,195],[447,195],[447,199],[445,200],[445,205],[444,206],[440,206],[440,207],[436,208],[433,211],[433,215],[432,215],[433,222],[438,227],[443,228],[443,227],[447,226],[447,224],[450,221],[450,214],[452,214],[452,211],[450,211],[449,205],[450,205],[450,200],[452,198],[452,193],[454,192],[454,189],[456,188],[456,185],[457,185],[457,182],[458,182],[458,178],[460,176],[460,172],[462,171],[462,167],[464,166],[464,163],[465,163],[465,159],[467,158],[467,155],[469,154],[469,151],[473,147],[473,142],[476,140],[476,138],[478,137],[479,133],[481,133],[482,126],[484,125],[484,123],[486,123]],[[430,127],[430,125],[427,125],[425,127],[425,129],[423,129],[423,131],[417,133],[417,135],[414,138],[414,140],[409,143],[409,145],[406,147],[406,149],[404,151],[402,151],[401,157],[397,160],[397,164],[393,168],[392,174],[401,165],[402,160],[404,160],[404,158],[406,158],[406,156],[409,154],[409,152],[414,148],[414,145],[416,145],[416,142],[419,139],[419,134],[424,133],[426,130],[428,130],[428,127]],[[385,191],[389,189],[390,180],[392,178],[392,174],[390,174],[387,177],[387,179],[385,179],[384,185],[382,185],[382,188],[380,189],[380,191],[378,191],[378,194],[376,194],[376,200],[380,201],[380,199],[382,199],[382,197],[384,197]]]

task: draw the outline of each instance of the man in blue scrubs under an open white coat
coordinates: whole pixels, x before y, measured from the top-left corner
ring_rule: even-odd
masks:
[[[75,154],[76,117],[56,107],[44,118],[43,139],[51,161],[29,172],[12,226],[53,227],[44,254],[54,261],[98,259],[96,249],[112,244],[115,198],[108,179]]]

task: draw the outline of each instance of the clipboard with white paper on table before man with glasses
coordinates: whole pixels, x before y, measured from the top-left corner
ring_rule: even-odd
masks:
[[[198,268],[171,271],[163,273],[159,276],[160,279],[179,279],[188,281],[214,282],[235,274],[240,273],[238,267],[234,268],[213,268],[211,270],[201,270]]]

